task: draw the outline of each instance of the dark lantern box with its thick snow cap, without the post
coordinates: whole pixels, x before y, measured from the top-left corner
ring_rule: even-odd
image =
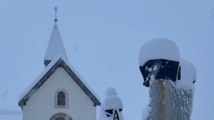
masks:
[[[139,68],[144,86],[149,87],[153,79],[176,81],[180,77],[179,59],[178,47],[171,40],[156,38],[145,43],[139,52]]]

